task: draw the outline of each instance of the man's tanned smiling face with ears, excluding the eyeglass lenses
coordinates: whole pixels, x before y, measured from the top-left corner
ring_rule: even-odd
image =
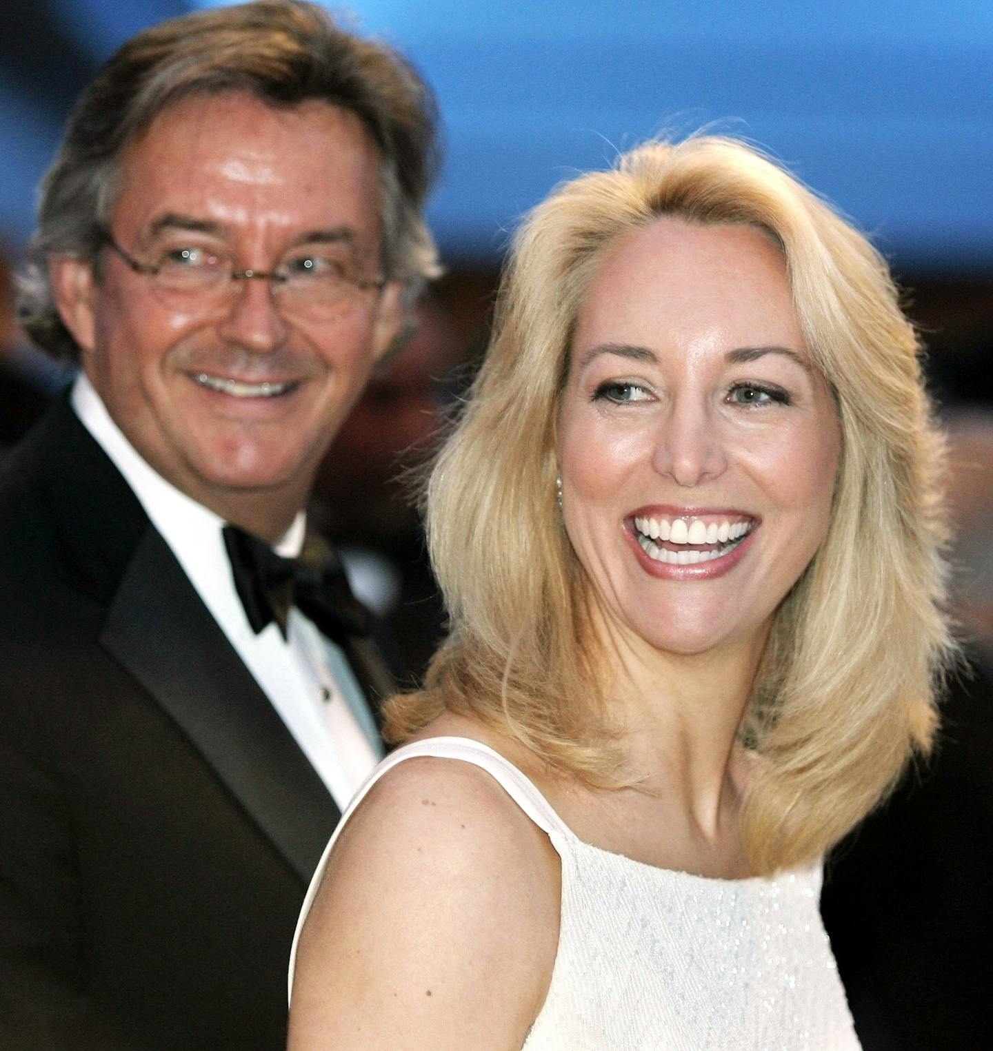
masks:
[[[130,144],[118,189],[109,233],[141,263],[188,245],[270,271],[289,252],[331,245],[349,272],[380,272],[379,156],[353,114],[323,102],[184,100]],[[392,283],[315,313],[265,280],[225,279],[220,297],[163,295],[109,248],[99,280],[69,260],[53,277],[86,374],[135,448],[263,535],[306,500],[400,322]]]

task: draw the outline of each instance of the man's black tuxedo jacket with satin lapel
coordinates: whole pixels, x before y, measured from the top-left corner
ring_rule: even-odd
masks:
[[[65,399],[0,467],[0,1047],[285,1046],[329,794]]]

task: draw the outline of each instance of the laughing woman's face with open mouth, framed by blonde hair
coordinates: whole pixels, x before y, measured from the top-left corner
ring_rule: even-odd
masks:
[[[565,526],[606,630],[761,646],[827,532],[840,450],[772,242],[676,218],[620,241],[559,424]]]

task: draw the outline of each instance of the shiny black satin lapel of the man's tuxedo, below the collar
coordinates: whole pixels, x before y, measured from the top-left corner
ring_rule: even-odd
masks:
[[[338,808],[150,526],[100,639],[182,727],[259,828],[307,881]]]

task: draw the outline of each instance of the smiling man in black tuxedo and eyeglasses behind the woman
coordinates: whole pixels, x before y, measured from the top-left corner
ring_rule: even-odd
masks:
[[[271,549],[437,269],[432,143],[417,75],[292,0],[141,34],[74,111],[20,306],[82,376],[0,476],[3,1047],[283,1046],[380,745],[361,609]]]

